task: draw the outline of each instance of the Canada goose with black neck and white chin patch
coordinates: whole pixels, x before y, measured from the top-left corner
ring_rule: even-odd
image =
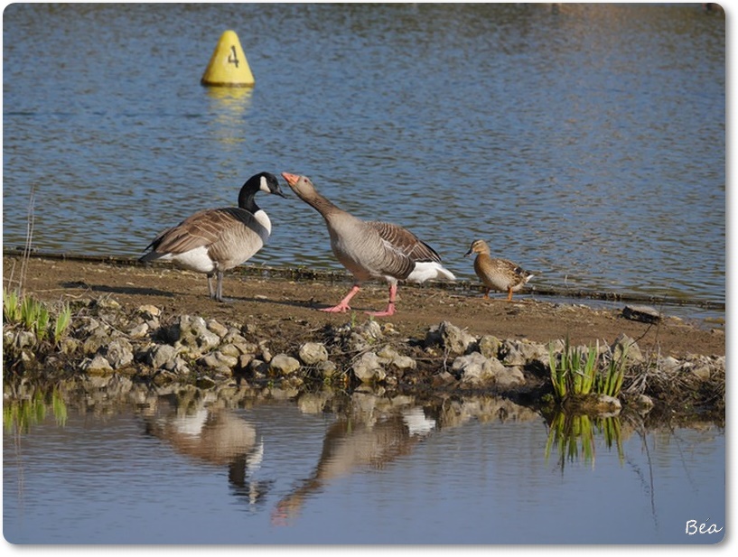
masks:
[[[257,191],[286,197],[274,174],[259,172],[238,193],[238,207],[201,210],[164,230],[146,247],[139,261],[172,261],[184,269],[208,275],[210,298],[223,301],[223,272],[248,260],[266,244],[272,223],[259,209]],[[213,289],[212,278],[218,279]]]

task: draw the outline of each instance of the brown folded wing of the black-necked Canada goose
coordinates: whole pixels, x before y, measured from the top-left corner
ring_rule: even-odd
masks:
[[[206,209],[164,230],[149,247],[158,253],[183,254],[197,247],[210,246],[230,230],[244,226],[255,231],[263,228],[248,210],[237,207]]]

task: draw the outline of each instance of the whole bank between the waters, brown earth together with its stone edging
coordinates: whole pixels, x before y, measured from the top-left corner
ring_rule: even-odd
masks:
[[[5,258],[5,284],[21,262]],[[403,393],[489,393],[542,404],[552,392],[549,348],[601,347],[603,361],[629,347],[624,404],[724,413],[724,333],[668,316],[657,323],[521,297],[404,287],[398,314],[373,320],[386,291],[368,286],[354,312],[315,311],[348,283],[230,274],[212,302],[202,275],[172,268],[31,259],[24,284],[46,302],[68,302],[70,334],[34,347],[4,327],[4,375],[126,376],[150,385],[190,384]],[[648,399],[644,399],[645,395]]]

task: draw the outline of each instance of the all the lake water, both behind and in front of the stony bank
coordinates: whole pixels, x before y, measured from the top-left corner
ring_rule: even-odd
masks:
[[[200,85],[227,29],[253,89]],[[37,249],[135,257],[250,175],[288,171],[411,228],[461,279],[481,237],[539,288],[725,302],[725,20],[697,4],[15,4],[3,62],[5,248],[25,242],[32,190]],[[274,230],[251,263],[340,269],[288,195],[260,200]],[[505,401],[277,398],[70,398],[64,419],[47,405],[6,425],[5,539],[725,534],[722,425],[622,420],[619,450],[579,424],[596,457],[576,438],[559,459],[571,443]]]

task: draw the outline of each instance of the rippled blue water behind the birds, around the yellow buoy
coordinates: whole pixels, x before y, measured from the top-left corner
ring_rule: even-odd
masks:
[[[202,88],[226,29],[257,85]],[[724,302],[725,27],[699,5],[9,5],[4,246],[140,255],[301,172],[540,287]],[[252,263],[339,269],[322,218],[263,199]]]

